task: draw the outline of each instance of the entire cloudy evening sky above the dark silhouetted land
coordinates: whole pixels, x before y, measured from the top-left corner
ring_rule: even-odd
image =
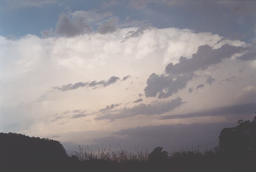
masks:
[[[218,144],[256,112],[256,1],[3,0],[0,132],[94,149]]]

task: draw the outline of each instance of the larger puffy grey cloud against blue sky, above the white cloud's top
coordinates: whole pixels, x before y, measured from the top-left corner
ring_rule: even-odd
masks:
[[[84,17],[75,16],[71,20],[67,15],[62,14],[58,19],[55,32],[57,35],[74,37],[90,33],[92,32],[92,28]]]

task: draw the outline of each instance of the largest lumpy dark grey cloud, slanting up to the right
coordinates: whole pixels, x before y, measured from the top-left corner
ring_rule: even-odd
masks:
[[[231,58],[235,53],[245,51],[245,47],[231,46],[224,44],[218,49],[209,45],[198,47],[198,51],[192,58],[180,57],[179,63],[166,66],[167,75],[151,74],[147,79],[145,87],[146,97],[167,98],[186,87],[189,80],[192,80],[195,71],[206,70],[210,65],[218,64],[224,58]],[[202,86],[201,86],[202,87]]]

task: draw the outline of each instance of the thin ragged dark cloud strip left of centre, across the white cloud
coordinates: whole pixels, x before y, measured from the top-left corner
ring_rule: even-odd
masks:
[[[97,86],[106,87],[106,86],[109,86],[109,85],[117,82],[117,80],[119,80],[119,79],[120,78],[118,78],[116,76],[111,76],[107,81],[101,80],[101,81],[97,82],[96,80],[94,80],[92,82],[77,82],[74,84],[70,83],[67,85],[62,85],[60,87],[55,86],[55,87],[53,87],[53,89],[60,90],[60,91],[67,91],[67,90],[78,89],[79,87],[97,87]]]

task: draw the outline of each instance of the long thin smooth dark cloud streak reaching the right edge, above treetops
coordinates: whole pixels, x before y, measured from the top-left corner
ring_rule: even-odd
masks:
[[[223,115],[238,115],[238,114],[253,114],[256,110],[256,103],[239,104],[233,106],[224,106],[209,109],[202,112],[192,112],[188,114],[168,115],[160,119],[179,119],[179,118],[192,118],[192,117],[212,117]]]

